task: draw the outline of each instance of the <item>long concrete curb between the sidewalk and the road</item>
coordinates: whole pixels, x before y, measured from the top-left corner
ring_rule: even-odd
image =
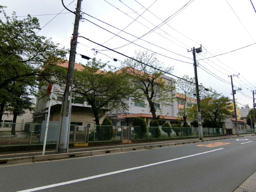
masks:
[[[80,152],[72,152],[72,153],[59,153],[59,154],[51,154],[51,155],[35,155],[30,157],[14,157],[14,158],[6,158],[0,159],[0,166],[7,164],[18,164],[18,163],[29,163],[29,162],[39,162],[39,161],[52,161],[57,159],[70,159],[75,157],[87,157],[94,155],[101,155],[107,153],[120,153],[120,152],[128,152],[128,151],[139,151],[139,150],[149,150],[149,149],[158,149],[158,148],[166,148],[171,146],[179,146],[184,144],[193,144],[199,142],[207,142],[213,140],[222,140],[229,138],[238,138],[237,137],[226,137],[226,138],[214,138],[214,139],[204,139],[204,140],[196,140],[196,141],[185,141],[185,142],[176,142],[169,144],[156,144],[156,145],[147,145],[147,146],[137,146],[137,147],[128,147],[128,148],[115,148],[109,150],[95,150],[95,151],[80,151]]]

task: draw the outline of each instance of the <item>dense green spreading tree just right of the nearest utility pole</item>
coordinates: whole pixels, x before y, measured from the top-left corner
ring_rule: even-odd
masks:
[[[126,100],[134,96],[136,90],[127,81],[126,74],[115,73],[112,69],[104,71],[106,64],[89,61],[81,71],[74,71],[73,92],[80,95],[93,111],[96,125],[104,112],[119,109],[128,109]],[[99,129],[96,129],[99,133]]]

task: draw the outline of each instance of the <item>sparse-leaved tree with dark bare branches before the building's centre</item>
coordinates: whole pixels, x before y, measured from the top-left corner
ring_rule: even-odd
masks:
[[[149,54],[148,52],[135,52],[135,54],[134,59],[137,61],[126,59],[122,63],[122,70],[130,76],[135,89],[139,90],[139,98],[147,99],[153,119],[158,120],[160,115],[156,115],[156,105],[157,103],[168,105],[173,102],[174,97],[171,92],[174,87],[172,82],[167,83],[163,80],[163,72],[155,68],[171,72],[173,67],[163,68],[155,54]]]

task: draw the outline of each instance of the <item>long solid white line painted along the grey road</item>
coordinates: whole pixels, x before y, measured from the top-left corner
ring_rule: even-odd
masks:
[[[36,188],[32,188],[32,189],[21,190],[21,191],[17,191],[17,192],[32,192],[32,191],[37,191],[37,190],[42,190],[42,189],[47,189],[47,188],[53,188],[53,187],[61,186],[61,185],[68,185],[68,184],[77,183],[77,182],[81,182],[81,181],[87,181],[87,180],[90,180],[90,179],[95,179],[95,178],[104,177],[104,176],[108,176],[108,175],[114,175],[114,174],[119,174],[119,173],[122,173],[122,172],[128,172],[128,171],[141,169],[141,168],[145,168],[145,167],[149,167],[149,166],[163,164],[163,163],[166,163],[166,162],[185,159],[185,158],[188,158],[188,157],[194,157],[194,156],[197,156],[197,155],[202,155],[202,154],[205,154],[205,153],[211,153],[211,152],[219,151],[219,150],[223,150],[223,149],[224,148],[219,148],[219,149],[216,149],[216,150],[206,151],[206,152],[202,152],[202,153],[196,153],[196,154],[193,154],[193,155],[178,157],[178,158],[175,158],[175,159],[169,159],[167,161],[155,162],[155,163],[142,165],[142,166],[138,166],[138,167],[133,167],[133,168],[123,169],[123,170],[119,170],[119,171],[109,172],[109,173],[106,173],[106,174],[94,175],[94,176],[91,176],[91,177],[84,177],[84,178],[81,178],[81,179],[75,179],[75,180],[66,181],[66,182],[62,182],[62,183],[56,183],[56,184],[52,184],[52,185],[45,185],[45,186],[36,187]]]

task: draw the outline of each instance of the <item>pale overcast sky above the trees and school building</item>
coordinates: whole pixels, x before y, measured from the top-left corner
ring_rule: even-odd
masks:
[[[77,0],[63,2],[66,6],[71,3],[68,8],[75,10]],[[256,7],[256,0],[252,3]],[[13,11],[17,16],[42,15],[36,16],[41,28],[56,16],[46,14],[57,14],[64,9],[61,0],[2,0],[1,5],[7,6],[5,10],[9,16]],[[194,77],[193,55],[187,49],[198,48],[202,44],[202,52],[197,54],[199,83],[232,98],[228,76],[235,75],[235,89],[242,89],[235,95],[238,106],[249,104],[252,107],[252,90],[256,89],[256,13],[250,0],[83,0],[82,11],[87,20],[80,22],[81,36],[108,48],[117,48],[116,51],[130,57],[134,56],[135,50],[144,48],[156,52],[164,66],[174,66],[172,74],[178,77]],[[74,14],[66,9],[61,13],[64,14],[59,14],[37,34],[52,38],[53,42],[68,48]],[[117,28],[126,33],[119,33]],[[119,33],[128,41],[148,34],[135,41],[135,45],[127,44],[128,41],[113,33]],[[96,57],[102,62],[110,61],[110,65],[117,67],[121,64],[113,58],[125,59],[85,39],[80,38],[78,42],[78,63],[87,63],[79,54]],[[93,48],[98,50],[98,54],[95,55]],[[233,50],[236,51],[231,52]],[[231,53],[225,54],[227,52]],[[220,56],[212,57],[215,55]],[[208,57],[212,58],[206,59]]]

